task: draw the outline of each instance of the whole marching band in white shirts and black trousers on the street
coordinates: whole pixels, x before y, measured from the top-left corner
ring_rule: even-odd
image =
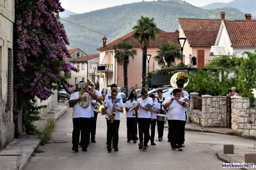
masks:
[[[177,74],[177,73],[176,73]],[[185,78],[184,78],[185,77]],[[175,85],[173,96],[163,97],[163,91],[157,90],[157,96],[150,94],[147,89],[141,89],[141,98],[137,99],[136,91],[132,90],[128,100],[125,103],[127,120],[127,142],[132,139],[133,143],[138,144],[139,150],[147,151],[148,142],[151,145],[155,143],[155,131],[157,124],[158,141],[163,141],[164,122],[168,120],[168,142],[172,150],[178,148],[182,151],[184,147],[184,126],[186,123],[186,108],[188,108],[188,93],[183,88],[188,84],[188,76],[185,73],[175,76]],[[111,85],[111,94],[106,95],[105,99],[98,90],[93,89],[92,81],[88,80],[78,87],[78,90],[72,94],[68,104],[73,108],[73,132],[72,132],[72,150],[78,152],[78,145],[81,144],[82,150],[87,151],[91,142],[95,143],[97,114],[105,115],[107,122],[107,148],[115,148],[118,152],[118,129],[120,125],[120,114],[124,112],[122,97],[117,92],[117,85]],[[171,80],[172,84],[172,80]],[[102,102],[104,99],[104,103]],[[138,131],[137,131],[138,122]],[[151,133],[150,133],[151,130]],[[79,134],[81,133],[81,143],[79,143]],[[137,137],[139,134],[139,138]],[[112,146],[112,147],[111,147]]]

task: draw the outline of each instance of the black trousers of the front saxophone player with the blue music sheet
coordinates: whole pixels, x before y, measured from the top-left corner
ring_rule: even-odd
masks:
[[[107,145],[111,147],[111,142],[113,141],[113,146],[118,146],[118,130],[119,130],[120,120],[114,120],[111,124],[110,120],[107,120]]]

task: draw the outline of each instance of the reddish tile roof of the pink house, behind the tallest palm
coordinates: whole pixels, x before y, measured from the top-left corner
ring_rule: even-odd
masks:
[[[118,38],[115,41],[108,43],[105,47],[100,47],[97,50],[104,50],[107,48],[112,48],[114,45],[116,45],[117,43],[120,43],[121,41],[128,41],[128,42],[132,43],[132,45],[134,45],[134,47],[140,47],[140,44],[138,43],[138,41],[136,41],[132,37],[132,34],[134,34],[134,32],[135,31],[129,32],[125,36],[122,36],[121,38]],[[149,47],[159,47],[160,45],[162,45],[164,43],[168,43],[170,41],[179,44],[177,38],[179,38],[179,31],[176,30],[174,32],[165,32],[162,30],[158,34],[156,41],[150,42]]]

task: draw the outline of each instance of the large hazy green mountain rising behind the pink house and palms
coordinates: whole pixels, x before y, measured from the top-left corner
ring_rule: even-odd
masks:
[[[177,18],[220,18],[221,11],[226,12],[225,18],[227,19],[244,19],[244,13],[235,8],[204,10],[186,3],[186,1],[169,0],[123,4],[70,15],[68,18],[62,18],[61,22],[65,26],[68,39],[70,39],[68,48],[80,48],[83,52],[93,54],[99,52],[96,49],[102,46],[104,36],[108,38],[107,43],[124,36],[132,31],[132,27],[136,25],[141,16],[154,17],[157,27],[170,32],[179,30]]]

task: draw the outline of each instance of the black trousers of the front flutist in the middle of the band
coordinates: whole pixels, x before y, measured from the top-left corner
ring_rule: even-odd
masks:
[[[144,146],[148,146],[150,118],[138,118],[138,125],[139,125],[140,143],[143,142],[143,134],[144,134]]]

